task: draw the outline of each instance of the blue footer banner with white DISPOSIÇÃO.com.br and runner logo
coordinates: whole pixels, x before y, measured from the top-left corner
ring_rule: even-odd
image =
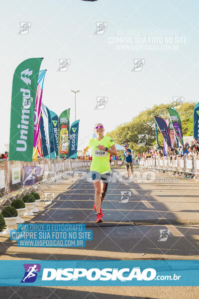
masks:
[[[0,286],[199,286],[199,261],[0,261]]]

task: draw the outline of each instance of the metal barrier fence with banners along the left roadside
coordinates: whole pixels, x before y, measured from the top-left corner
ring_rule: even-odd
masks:
[[[29,189],[50,188],[51,183],[60,182],[67,178],[74,170],[90,167],[89,160],[75,159],[45,159],[23,162],[0,159],[0,206],[10,198],[15,198],[21,192],[25,194]],[[42,190],[42,189],[41,189]]]

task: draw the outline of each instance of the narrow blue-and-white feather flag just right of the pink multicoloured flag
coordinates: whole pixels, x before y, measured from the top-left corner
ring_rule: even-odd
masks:
[[[40,134],[43,156],[50,158],[50,141],[49,141],[49,129],[48,129],[48,113],[45,105],[41,104],[41,120],[40,120]]]

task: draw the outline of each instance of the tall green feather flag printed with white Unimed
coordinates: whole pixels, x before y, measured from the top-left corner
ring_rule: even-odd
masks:
[[[34,109],[43,58],[29,58],[15,69],[10,111],[9,160],[32,161]]]

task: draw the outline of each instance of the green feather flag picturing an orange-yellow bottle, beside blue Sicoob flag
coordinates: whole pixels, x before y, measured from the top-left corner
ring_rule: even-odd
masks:
[[[70,108],[59,117],[59,157],[69,157]]]

